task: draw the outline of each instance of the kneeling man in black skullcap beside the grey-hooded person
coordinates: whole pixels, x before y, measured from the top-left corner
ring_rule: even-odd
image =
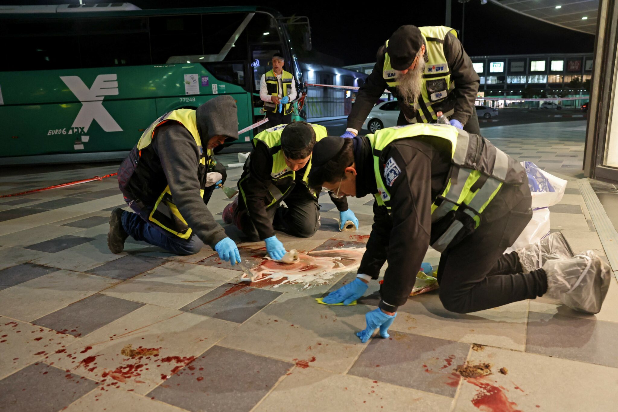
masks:
[[[286,254],[274,230],[292,236],[311,237],[320,225],[318,190],[307,185],[311,150],[326,137],[324,126],[294,122],[271,127],[253,138],[253,150],[238,182],[240,195],[223,211],[223,220],[234,223],[252,242],[264,240],[275,260]],[[345,198],[332,196],[341,219],[358,227],[358,219]],[[285,200],[287,208],[279,206]]]

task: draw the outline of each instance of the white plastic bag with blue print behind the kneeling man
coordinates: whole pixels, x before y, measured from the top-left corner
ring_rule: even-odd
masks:
[[[549,206],[562,200],[567,181],[539,169],[533,162],[522,162],[528,175],[532,195],[532,219],[515,243],[505,253],[510,253],[549,235]]]

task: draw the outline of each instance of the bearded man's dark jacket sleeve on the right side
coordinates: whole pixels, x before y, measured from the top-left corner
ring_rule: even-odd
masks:
[[[465,53],[464,46],[452,34],[448,34],[444,41],[444,54],[451,69],[451,78],[455,82],[455,113],[451,119],[457,119],[465,125],[472,116],[474,102],[480,78],[472,65],[472,60]]]

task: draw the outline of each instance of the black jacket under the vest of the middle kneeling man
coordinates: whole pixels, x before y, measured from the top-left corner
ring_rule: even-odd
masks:
[[[239,188],[247,200],[246,204],[242,197],[239,197],[239,207],[247,208],[255,229],[261,239],[274,236],[273,222],[268,218],[266,205],[270,202],[268,184],[271,182],[271,172],[273,171],[273,156],[270,154],[268,146],[263,141],[256,141],[256,145],[251,151],[249,167],[245,169],[239,179]],[[304,185],[303,176],[307,166],[297,170],[295,173],[296,185]],[[291,190],[289,191],[291,193]],[[307,189],[307,193],[309,190]],[[332,203],[337,206],[337,210],[346,211],[348,209],[347,200],[334,199]]]

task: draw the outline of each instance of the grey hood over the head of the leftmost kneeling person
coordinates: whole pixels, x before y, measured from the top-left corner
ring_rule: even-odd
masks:
[[[203,140],[213,136],[227,136],[226,141],[238,138],[238,114],[232,96],[217,96],[197,108],[197,130]]]

